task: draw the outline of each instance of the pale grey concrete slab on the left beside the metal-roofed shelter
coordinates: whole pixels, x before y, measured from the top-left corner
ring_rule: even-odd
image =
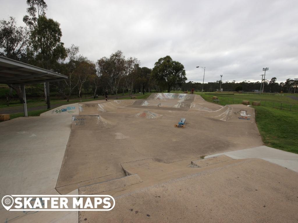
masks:
[[[11,194],[58,194],[55,186],[71,120],[71,116],[44,116],[0,123],[1,198]],[[6,211],[0,204],[0,222],[77,222],[77,219],[75,211]]]

